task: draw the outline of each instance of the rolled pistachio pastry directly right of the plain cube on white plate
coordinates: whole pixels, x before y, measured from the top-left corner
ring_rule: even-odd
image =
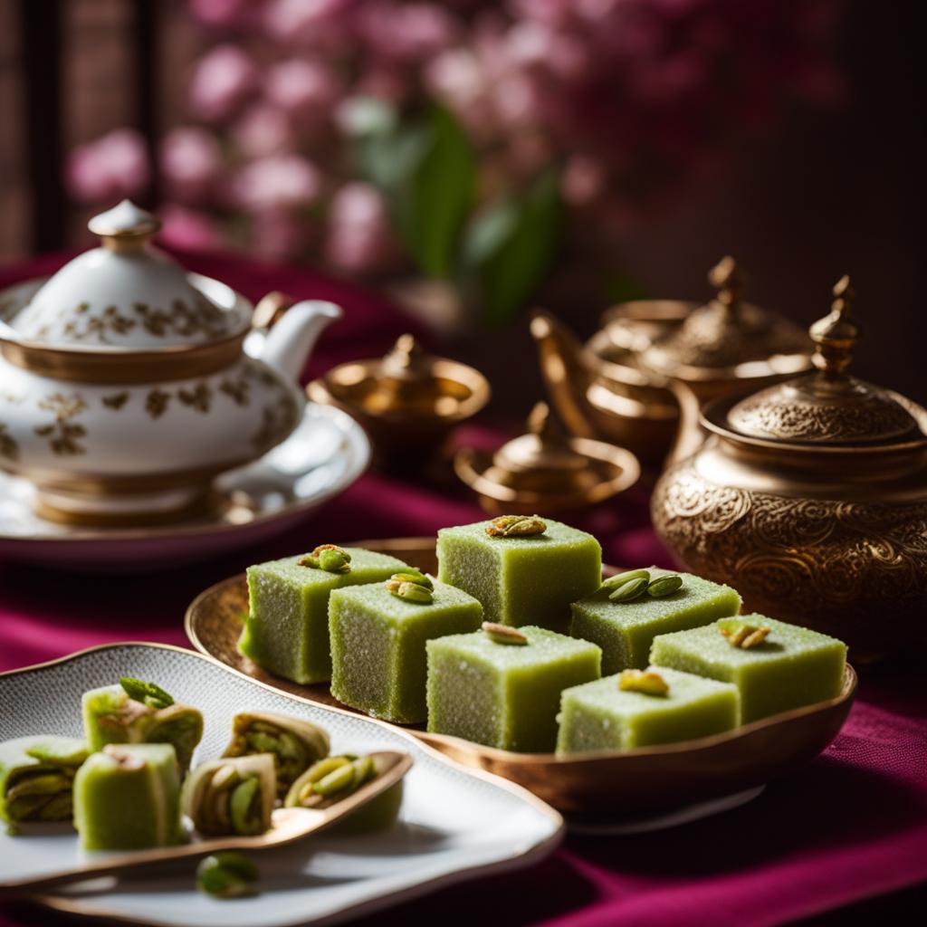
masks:
[[[277,795],[271,754],[212,760],[190,773],[181,810],[204,836],[252,836],[271,826]]]

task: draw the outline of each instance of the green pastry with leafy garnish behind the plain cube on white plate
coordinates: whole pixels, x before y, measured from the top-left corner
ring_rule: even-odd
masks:
[[[84,692],[83,730],[90,749],[101,750],[107,743],[171,743],[185,775],[203,736],[203,716],[166,692],[162,695],[163,700],[142,702],[122,685]]]

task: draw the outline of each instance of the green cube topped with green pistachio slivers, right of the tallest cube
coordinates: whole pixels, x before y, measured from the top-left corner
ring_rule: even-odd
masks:
[[[672,575],[658,566],[648,572],[651,580]],[[681,588],[662,598],[645,592],[632,602],[614,602],[609,595],[615,590],[603,586],[573,604],[570,633],[602,648],[604,674],[646,667],[657,634],[697,628],[740,611],[741,597],[730,586],[689,573],[679,576]]]

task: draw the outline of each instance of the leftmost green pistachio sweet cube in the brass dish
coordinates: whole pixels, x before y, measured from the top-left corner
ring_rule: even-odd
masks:
[[[347,573],[301,566],[285,557],[248,567],[248,616],[238,650],[264,669],[294,682],[331,679],[328,595],[345,586],[382,582],[406,565],[385,553],[346,547]]]

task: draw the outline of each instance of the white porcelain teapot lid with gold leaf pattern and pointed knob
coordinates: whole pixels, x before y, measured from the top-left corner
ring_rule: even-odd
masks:
[[[101,246],[65,264],[10,321],[23,341],[151,351],[224,340],[250,324],[241,306],[223,309],[151,246],[160,222],[150,212],[123,199],[87,227]]]

